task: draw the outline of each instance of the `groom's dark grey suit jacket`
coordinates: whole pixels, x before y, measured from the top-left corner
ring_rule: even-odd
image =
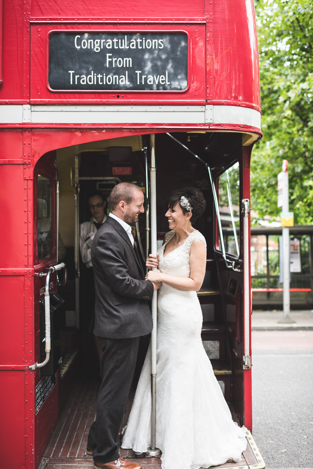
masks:
[[[110,339],[149,334],[153,322],[147,300],[153,283],[145,280],[136,250],[112,217],[99,228],[91,249],[96,303],[93,333]]]

